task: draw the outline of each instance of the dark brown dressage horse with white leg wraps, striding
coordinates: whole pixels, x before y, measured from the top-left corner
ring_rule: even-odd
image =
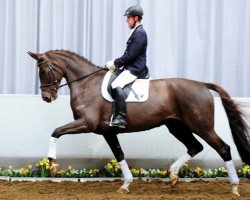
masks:
[[[43,54],[28,52],[37,60],[41,82],[42,98],[52,102],[58,97],[58,89],[64,85],[70,88],[71,109],[75,121],[58,127],[51,135],[49,154],[51,173],[56,173],[56,142],[66,134],[96,133],[103,135],[115,158],[121,164],[124,184],[120,190],[127,190],[133,177],[124,159],[117,134],[148,130],[166,125],[186,148],[187,153],[170,166],[172,187],[178,182],[181,166],[203,150],[194,137],[198,135],[214,148],[225,161],[232,192],[238,195],[239,179],[232,162],[230,147],[214,130],[214,99],[209,90],[221,97],[227,114],[232,136],[242,161],[250,164],[250,144],[247,123],[239,105],[220,86],[182,78],[151,80],[149,97],[143,103],[127,103],[127,126],[125,129],[110,127],[112,105],[101,94],[106,71],[87,59],[64,50],[48,51]],[[60,85],[62,78],[67,83]]]

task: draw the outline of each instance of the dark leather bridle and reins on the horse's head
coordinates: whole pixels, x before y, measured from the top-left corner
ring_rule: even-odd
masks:
[[[59,84],[60,81],[58,81],[58,80],[55,78],[53,71],[59,73],[62,77],[63,77],[63,72],[59,71],[57,68],[55,68],[55,67],[52,65],[52,63],[49,61],[49,59],[48,59],[48,57],[46,56],[46,54],[43,54],[43,56],[44,56],[44,61],[39,62],[39,63],[37,64],[37,66],[39,66],[39,65],[41,65],[41,64],[43,64],[43,63],[46,63],[47,66],[48,66],[48,69],[49,69],[49,77],[48,77],[48,84],[41,85],[41,86],[40,86],[40,89],[41,89],[42,91],[46,91],[46,92],[52,94],[53,96],[55,96],[55,94],[57,93],[57,91],[58,91],[60,88],[66,86],[66,85],[70,85],[70,84],[73,83],[73,82],[82,80],[82,79],[84,79],[84,78],[86,78],[86,77],[88,77],[88,76],[91,76],[91,75],[93,75],[93,74],[95,74],[95,73],[98,73],[98,72],[100,72],[100,71],[107,70],[106,67],[98,67],[99,70],[97,70],[97,71],[95,71],[95,72],[92,72],[92,73],[90,73],[90,74],[87,74],[87,75],[85,75],[85,76],[79,77],[79,78],[77,78],[77,79],[75,79],[75,80],[72,80],[72,81],[69,81],[69,82],[67,82],[67,83],[65,83],[65,84],[60,85],[60,84]],[[51,91],[49,91],[49,90],[46,89],[46,88],[49,88],[49,87],[52,87],[52,86],[53,86],[52,89],[53,89],[53,91],[55,91],[55,92],[51,92]]]

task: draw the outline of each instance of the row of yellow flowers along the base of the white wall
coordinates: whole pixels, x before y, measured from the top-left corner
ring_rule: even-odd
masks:
[[[36,169],[33,170],[32,165],[28,165],[28,168],[20,168],[19,170],[14,170],[12,166],[7,169],[0,168],[0,176],[11,176],[11,177],[49,177],[50,164],[47,158],[43,158],[36,163]],[[166,178],[169,177],[169,170],[167,169],[149,169],[145,170],[143,168],[136,169],[132,168],[131,173],[134,177],[150,177],[150,178]],[[250,166],[243,164],[240,169],[237,170],[238,176],[240,178],[250,178]],[[121,177],[121,169],[119,163],[112,159],[110,160],[103,169],[83,169],[75,170],[72,166],[68,166],[67,170],[59,170],[57,172],[57,177]],[[215,178],[215,177],[227,177],[227,170],[224,167],[219,167],[217,169],[204,170],[201,167],[196,167],[194,170],[190,169],[189,165],[186,163],[179,171],[179,176],[181,178]]]

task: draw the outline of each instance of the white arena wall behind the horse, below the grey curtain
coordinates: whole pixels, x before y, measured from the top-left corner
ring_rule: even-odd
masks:
[[[235,98],[250,105],[248,98]],[[215,97],[215,129],[231,146],[233,160],[240,161],[228,120],[220,98]],[[244,111],[250,115],[249,107]],[[69,96],[59,96],[53,103],[45,103],[40,95],[0,95],[0,167],[27,167],[47,156],[48,141],[53,130],[73,120]],[[186,148],[166,127],[118,136],[125,157],[135,168],[166,168],[186,152]],[[199,138],[198,138],[199,139]],[[199,139],[200,140],[200,139]],[[203,140],[204,150],[190,165],[204,168],[224,166],[217,152]],[[62,169],[72,165],[75,169],[102,167],[114,158],[104,138],[93,133],[62,136],[57,148]]]

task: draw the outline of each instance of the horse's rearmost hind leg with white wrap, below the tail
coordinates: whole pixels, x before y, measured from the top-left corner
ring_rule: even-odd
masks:
[[[226,144],[215,132],[212,130],[207,132],[207,134],[199,134],[202,139],[204,139],[211,147],[213,147],[221,158],[224,160],[226,169],[228,172],[228,177],[230,183],[233,185],[232,193],[239,195],[238,193],[238,185],[239,185],[239,178],[236,173],[236,169],[234,163],[232,161],[230,146]]]

